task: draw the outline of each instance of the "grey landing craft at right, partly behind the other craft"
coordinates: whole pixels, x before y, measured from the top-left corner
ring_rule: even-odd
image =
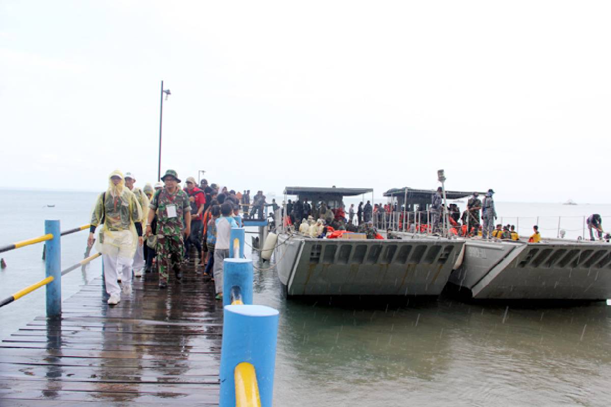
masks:
[[[398,199],[409,209],[426,209],[434,190],[398,190],[385,196]],[[404,192],[404,193],[401,193]],[[454,192],[452,192],[454,193]],[[470,194],[466,193],[468,196]],[[408,196],[408,200],[404,197]],[[455,194],[453,195],[455,196]],[[401,198],[404,199],[401,202]],[[415,214],[416,212],[414,212]],[[426,214],[426,212],[425,212]],[[409,215],[409,212],[408,212]],[[415,217],[406,216],[406,231]],[[392,223],[404,238],[420,236],[404,232],[401,223]],[[438,237],[428,236],[428,239]],[[448,283],[466,289],[475,299],[521,300],[606,300],[611,298],[611,244],[570,239],[542,239],[529,243],[518,241],[463,240],[462,262],[450,274]]]

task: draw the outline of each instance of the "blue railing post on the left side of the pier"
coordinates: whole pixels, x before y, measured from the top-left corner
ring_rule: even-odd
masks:
[[[46,316],[59,318],[62,315],[62,257],[59,220],[45,220],[45,234],[48,233],[53,234],[53,239],[46,242],[45,276],[53,276],[53,281],[46,284]]]

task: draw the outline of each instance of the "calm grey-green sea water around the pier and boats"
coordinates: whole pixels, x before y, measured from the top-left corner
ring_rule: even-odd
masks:
[[[59,218],[62,229],[88,223],[96,196],[0,194],[2,245],[43,234],[45,218]],[[542,228],[543,236],[551,237],[558,216],[611,214],[609,205],[497,203],[497,208],[507,217],[555,217],[553,230]],[[62,267],[82,259],[86,238],[87,232],[62,238]],[[8,264],[0,272],[0,297],[43,278],[41,253],[42,245],[35,245],[0,255]],[[80,270],[64,276],[64,298],[100,271],[97,260],[86,278]],[[274,270],[255,270],[254,287],[255,303],[280,311],[276,406],[610,404],[611,306],[605,303],[465,304],[449,298],[379,297],[287,301]],[[44,294],[38,290],[0,308],[0,337],[43,315]]]

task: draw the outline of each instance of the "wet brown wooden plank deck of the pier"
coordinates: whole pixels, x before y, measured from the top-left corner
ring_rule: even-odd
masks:
[[[183,267],[185,270],[185,267]],[[0,342],[0,406],[218,405],[222,303],[188,267],[106,304],[101,278]],[[24,321],[25,323],[25,321]]]

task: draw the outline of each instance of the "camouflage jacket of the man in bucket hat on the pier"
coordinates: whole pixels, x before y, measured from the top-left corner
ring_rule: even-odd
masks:
[[[175,205],[176,216],[168,217],[168,206]],[[181,189],[170,195],[167,190],[161,189],[153,195],[150,208],[155,210],[157,215],[157,234],[178,235],[185,228],[185,214],[191,211],[189,195]]]

